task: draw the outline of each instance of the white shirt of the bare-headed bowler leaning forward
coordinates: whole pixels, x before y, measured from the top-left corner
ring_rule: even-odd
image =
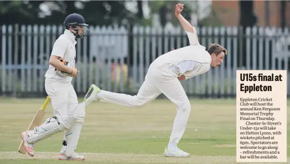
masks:
[[[160,69],[173,71],[178,77],[184,75],[185,79],[188,79],[209,71],[212,57],[205,47],[199,44],[196,32],[185,32],[190,46],[165,53],[152,64]]]

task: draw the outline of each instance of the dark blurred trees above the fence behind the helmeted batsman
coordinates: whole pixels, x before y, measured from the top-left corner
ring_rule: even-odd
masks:
[[[0,1],[1,24],[62,24],[65,17],[78,13],[91,25],[126,24],[143,17],[128,11],[126,1]],[[46,4],[50,15],[42,16]],[[138,3],[142,8],[142,4]],[[127,21],[125,21],[127,20]]]

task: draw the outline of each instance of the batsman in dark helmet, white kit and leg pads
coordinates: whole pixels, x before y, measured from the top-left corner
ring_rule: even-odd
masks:
[[[60,160],[84,160],[75,153],[80,130],[85,119],[86,102],[78,104],[71,80],[77,75],[75,68],[76,38],[88,33],[89,25],[79,14],[70,14],[64,20],[64,33],[53,46],[49,68],[45,74],[45,90],[51,99],[54,116],[47,118],[44,124],[34,130],[21,133],[27,153],[34,156],[34,144],[64,132]]]

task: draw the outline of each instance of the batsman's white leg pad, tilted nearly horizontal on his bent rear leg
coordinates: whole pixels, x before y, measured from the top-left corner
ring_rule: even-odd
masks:
[[[34,128],[34,134],[27,138],[27,142],[33,144],[51,137],[58,132],[66,131],[75,124],[76,120],[77,118],[71,116],[47,118],[43,125]]]

